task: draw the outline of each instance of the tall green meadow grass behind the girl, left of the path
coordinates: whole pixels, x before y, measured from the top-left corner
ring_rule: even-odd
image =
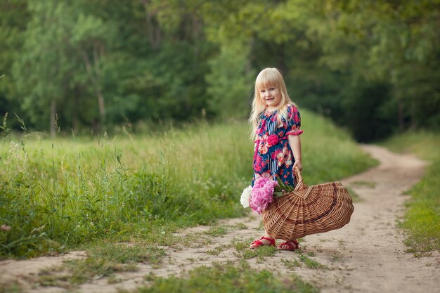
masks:
[[[344,131],[302,114],[308,183],[374,164]],[[34,256],[240,216],[252,150],[245,123],[113,138],[9,136],[0,143],[0,224],[11,230],[0,230],[0,255]]]

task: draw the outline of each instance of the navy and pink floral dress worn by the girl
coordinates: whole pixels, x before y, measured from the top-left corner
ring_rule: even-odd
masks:
[[[262,112],[257,128],[254,153],[254,181],[259,177],[278,177],[287,185],[294,185],[295,176],[292,172],[295,159],[290,148],[288,136],[302,134],[300,130],[301,116],[294,105],[287,106],[287,119],[281,117],[278,123],[278,111]]]

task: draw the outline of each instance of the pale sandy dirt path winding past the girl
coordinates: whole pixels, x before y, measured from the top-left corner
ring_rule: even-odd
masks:
[[[423,162],[410,155],[397,155],[373,145],[363,146],[365,151],[379,159],[379,167],[370,169],[342,181],[363,199],[355,203],[354,214],[348,226],[328,233],[311,235],[301,243],[302,252],[314,253],[311,259],[322,263],[328,269],[311,269],[306,266],[289,269],[282,259],[298,259],[299,254],[278,252],[267,257],[263,263],[257,259],[249,262],[258,268],[268,268],[280,275],[295,273],[304,280],[321,288],[321,292],[440,292],[440,255],[415,258],[405,252],[402,231],[396,228],[396,219],[403,214],[403,202],[408,198],[401,195],[422,176]],[[242,223],[246,227],[231,228],[228,234],[209,237],[211,244],[195,244],[194,247],[172,249],[163,247],[167,256],[160,268],[140,263],[135,273],[116,276],[120,282],[110,284],[108,279],[92,280],[75,288],[75,292],[117,292],[132,290],[145,285],[145,275],[153,272],[158,276],[180,275],[196,266],[213,261],[238,261],[235,249],[224,248],[218,255],[207,254],[220,245],[228,245],[233,238],[247,240],[261,236],[259,218],[250,215],[243,219],[222,221],[221,225],[232,227]],[[209,230],[200,226],[184,230],[185,237],[207,237]],[[63,259],[82,257],[74,252],[63,257],[41,257],[28,261],[0,261],[1,283],[15,280],[25,292],[66,292],[59,287],[39,287],[33,282],[43,268],[61,264]]]

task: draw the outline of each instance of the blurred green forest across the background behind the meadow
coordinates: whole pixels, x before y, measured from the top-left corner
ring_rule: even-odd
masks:
[[[245,119],[264,67],[358,141],[439,130],[439,29],[439,0],[2,0],[0,133]]]

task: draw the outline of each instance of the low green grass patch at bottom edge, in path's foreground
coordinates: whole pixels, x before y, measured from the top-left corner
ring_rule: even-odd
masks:
[[[247,263],[214,263],[212,267],[202,266],[190,271],[188,278],[153,278],[148,287],[138,289],[137,293],[159,292],[255,292],[255,293],[316,293],[313,285],[300,280],[296,275],[280,279],[270,271],[257,271]]]

